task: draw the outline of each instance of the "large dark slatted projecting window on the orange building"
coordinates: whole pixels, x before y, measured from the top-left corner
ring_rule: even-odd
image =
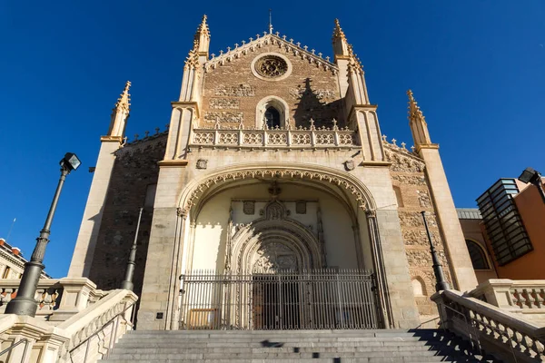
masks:
[[[500,266],[533,250],[513,196],[514,179],[500,179],[477,199],[494,258]]]

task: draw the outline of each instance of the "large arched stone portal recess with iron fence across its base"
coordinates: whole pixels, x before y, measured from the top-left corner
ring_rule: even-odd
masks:
[[[191,325],[198,310],[199,321],[221,315],[223,323],[213,324],[223,329],[225,321],[236,326],[229,329],[363,328],[363,316],[378,328],[369,207],[371,194],[351,174],[315,165],[245,164],[190,182],[179,209],[182,290],[203,282],[192,280],[194,271],[212,271],[221,283],[200,298],[205,309],[194,308],[185,292],[179,321]],[[320,283],[332,286],[322,290]],[[339,289],[354,300],[339,300]],[[316,325],[326,308],[329,320]]]

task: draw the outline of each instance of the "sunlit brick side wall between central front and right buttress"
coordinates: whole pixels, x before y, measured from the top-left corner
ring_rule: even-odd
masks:
[[[421,315],[436,315],[437,307],[430,300],[430,296],[435,292],[436,281],[431,267],[430,243],[421,211],[427,211],[426,220],[431,231],[431,239],[441,258],[446,279],[449,283],[452,282],[449,262],[424,174],[424,162],[415,154],[391,143],[384,142],[384,146],[386,158],[392,162],[391,182],[398,199],[401,232],[409,260],[411,280],[418,280],[423,284],[423,295],[415,296],[416,304]]]

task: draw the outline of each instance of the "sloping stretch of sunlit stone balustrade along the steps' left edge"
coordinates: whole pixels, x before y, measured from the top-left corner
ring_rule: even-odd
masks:
[[[94,346],[98,347],[95,355],[103,356],[107,353],[113,348],[117,338],[127,329],[132,329],[131,316],[137,299],[132,291],[115,289],[94,305],[59,324],[57,328],[70,337],[59,349],[59,361],[84,361],[89,356],[89,343],[92,338],[96,340]],[[99,337],[97,333],[101,331],[104,334]],[[89,361],[96,361],[96,358],[90,358]]]

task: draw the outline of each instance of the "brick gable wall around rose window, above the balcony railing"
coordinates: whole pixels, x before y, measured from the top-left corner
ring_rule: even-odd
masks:
[[[263,53],[282,54],[292,63],[292,74],[280,81],[267,81],[252,71],[253,59]],[[212,127],[216,121],[225,126],[255,126],[257,104],[266,96],[282,98],[289,106],[289,118],[296,126],[308,127],[312,117],[316,127],[340,126],[341,94],[337,75],[308,60],[286,53],[278,45],[263,45],[231,62],[225,62],[204,74],[201,126]]]

